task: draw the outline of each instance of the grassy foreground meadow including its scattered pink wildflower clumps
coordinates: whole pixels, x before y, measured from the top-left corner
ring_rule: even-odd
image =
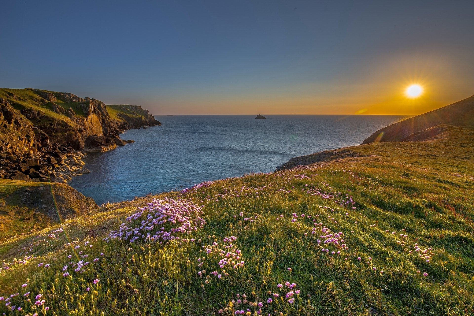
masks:
[[[447,170],[340,161],[107,206],[2,243],[0,311],[472,315],[473,181]]]

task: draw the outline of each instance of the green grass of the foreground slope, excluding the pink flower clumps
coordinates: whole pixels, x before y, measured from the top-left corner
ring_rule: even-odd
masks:
[[[20,293],[14,304],[32,312],[21,295],[42,293],[51,307],[47,315],[210,315],[236,301],[237,294],[262,302],[263,315],[472,315],[474,137],[471,129],[451,126],[448,132],[428,142],[336,150],[310,167],[215,181],[208,188],[181,194],[204,205],[207,224],[188,236],[201,242],[102,241],[104,232],[117,229],[124,216],[151,198],[69,220],[64,227],[67,234],[58,233],[54,239],[46,238],[46,232],[41,242],[17,236],[0,245],[3,258],[11,261],[14,253],[24,255],[22,248],[30,249],[34,242],[32,253],[44,257],[3,272],[0,295]],[[337,198],[311,196],[306,191],[311,186],[342,192],[344,199],[351,194],[356,209],[339,206]],[[259,197],[256,188],[263,189]],[[240,212],[254,221],[244,220]],[[295,223],[292,213],[300,216]],[[303,213],[306,217],[301,217]],[[283,218],[277,221],[280,215]],[[317,226],[317,234],[311,235],[312,219],[333,234],[342,232],[348,249],[318,245],[322,232]],[[211,244],[214,236],[222,244],[230,235],[237,236],[235,244],[245,266],[227,269],[229,276],[219,280],[210,274],[220,271],[216,260],[209,258],[199,267],[197,259],[206,256],[202,246]],[[93,246],[64,248],[72,240],[87,240]],[[432,249],[430,262],[418,257],[415,244]],[[325,254],[323,248],[341,254]],[[63,265],[80,260],[80,250],[90,262],[100,260],[83,273],[69,269],[72,276],[63,277]],[[51,267],[37,267],[39,262]],[[202,270],[206,272],[201,279]],[[209,284],[204,283],[207,275]],[[96,278],[100,282],[94,285]],[[285,286],[277,288],[286,280],[301,289],[295,303],[273,298],[267,305],[268,291],[283,295],[288,291]],[[25,289],[23,283],[28,284]],[[228,308],[225,314],[232,308],[249,308],[253,315],[259,307],[247,302]]]

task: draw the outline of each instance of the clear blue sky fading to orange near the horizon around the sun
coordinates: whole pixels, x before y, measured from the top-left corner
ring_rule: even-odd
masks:
[[[474,94],[473,17],[473,0],[4,1],[0,87],[155,115],[420,114]]]

